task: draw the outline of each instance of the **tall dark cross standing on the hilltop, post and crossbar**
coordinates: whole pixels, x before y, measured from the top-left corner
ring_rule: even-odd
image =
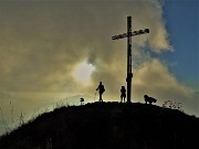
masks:
[[[149,33],[148,29],[132,32],[132,17],[127,17],[127,33],[112,36],[112,40],[118,40],[127,38],[127,103],[130,103],[132,96],[132,36]]]

